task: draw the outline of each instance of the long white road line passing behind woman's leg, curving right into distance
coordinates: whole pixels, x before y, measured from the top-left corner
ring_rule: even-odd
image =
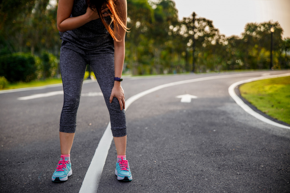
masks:
[[[282,71],[285,72],[285,71]],[[145,96],[149,93],[152,93],[154,91],[171,87],[179,84],[186,84],[191,82],[199,82],[204,80],[213,80],[213,79],[220,79],[220,78],[233,78],[233,77],[241,77],[241,76],[255,76],[255,75],[261,75],[262,72],[256,72],[256,73],[242,73],[242,74],[231,74],[231,75],[221,75],[221,76],[210,76],[210,77],[204,77],[204,78],[196,78],[196,79],[190,79],[190,80],[182,80],[178,82],[171,82],[167,84],[162,84],[157,87],[153,87],[151,89],[148,89],[146,91],[140,92],[134,96],[131,96],[126,100],[126,110],[128,107],[137,99],[141,98],[142,96]],[[102,171],[105,165],[105,161],[108,155],[108,151],[110,149],[111,143],[113,140],[112,133],[110,131],[110,123],[108,124],[104,135],[102,136],[97,149],[95,151],[95,155],[93,156],[93,159],[90,163],[90,166],[88,168],[88,171],[86,173],[86,176],[84,178],[84,181],[81,185],[81,189],[79,190],[79,193],[93,193],[97,192],[99,181],[102,175]],[[134,175],[134,174],[133,174]]]

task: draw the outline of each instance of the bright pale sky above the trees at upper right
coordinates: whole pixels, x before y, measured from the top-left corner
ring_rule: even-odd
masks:
[[[225,36],[238,35],[246,23],[278,21],[290,38],[290,0],[175,0],[178,17],[197,16],[213,21]]]

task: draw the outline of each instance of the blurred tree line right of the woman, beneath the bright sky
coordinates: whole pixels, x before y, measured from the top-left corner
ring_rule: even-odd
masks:
[[[225,37],[209,19],[178,21],[173,1],[128,1],[127,25],[125,62],[133,74],[267,69],[272,26],[273,68],[290,68],[290,38],[282,40],[278,22],[247,23],[241,37]]]

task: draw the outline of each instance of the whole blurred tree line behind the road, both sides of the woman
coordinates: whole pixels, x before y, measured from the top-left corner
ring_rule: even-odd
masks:
[[[56,15],[56,1],[55,5],[51,0],[1,2],[0,76],[5,75],[10,81],[30,81],[51,78],[60,73],[61,40]],[[241,37],[225,37],[209,19],[198,17],[193,23],[193,17],[185,17],[179,21],[173,1],[142,0],[128,1],[127,21],[131,32],[126,33],[124,73],[267,69],[270,67],[272,26],[275,29],[273,68],[290,68],[290,38],[282,39],[283,30],[278,22],[247,23]],[[21,68],[19,62],[21,64],[22,59],[12,62],[19,57],[23,60],[33,57],[34,62],[31,60],[19,71],[17,68]],[[24,73],[29,66],[35,69],[35,73],[29,72],[26,77],[21,76],[23,78],[17,80],[10,78]]]

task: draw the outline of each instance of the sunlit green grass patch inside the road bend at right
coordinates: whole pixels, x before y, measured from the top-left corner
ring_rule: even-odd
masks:
[[[239,89],[257,109],[290,124],[290,76],[245,83]]]

